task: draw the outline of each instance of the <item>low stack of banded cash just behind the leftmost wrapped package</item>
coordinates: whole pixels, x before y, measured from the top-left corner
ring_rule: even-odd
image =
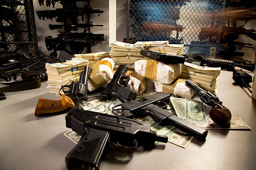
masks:
[[[88,54],[75,54],[76,58],[89,60],[89,65],[94,64],[97,61],[105,57],[110,57],[109,52],[95,52],[95,53],[88,53]]]

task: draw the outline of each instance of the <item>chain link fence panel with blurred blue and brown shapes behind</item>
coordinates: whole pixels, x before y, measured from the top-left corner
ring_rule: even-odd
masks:
[[[184,43],[185,53],[209,55],[220,35],[223,0],[129,0],[128,40]]]

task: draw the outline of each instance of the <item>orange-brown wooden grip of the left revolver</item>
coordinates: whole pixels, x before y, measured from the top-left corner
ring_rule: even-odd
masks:
[[[48,100],[40,97],[36,105],[35,116],[60,112],[68,107],[74,107],[74,102],[67,95],[61,95],[60,100]]]

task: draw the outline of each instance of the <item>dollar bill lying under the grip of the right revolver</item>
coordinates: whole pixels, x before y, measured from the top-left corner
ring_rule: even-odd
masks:
[[[207,118],[208,123],[207,124],[195,124],[203,129],[233,129],[233,130],[239,130],[239,129],[251,129],[250,126],[246,125],[243,120],[241,120],[240,117],[232,117],[230,121],[230,126],[228,127],[220,127],[219,125],[216,125],[210,118]]]

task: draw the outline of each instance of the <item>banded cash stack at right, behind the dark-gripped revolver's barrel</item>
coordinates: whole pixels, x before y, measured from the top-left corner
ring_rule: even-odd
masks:
[[[202,67],[188,62],[182,64],[180,77],[198,83],[202,89],[217,95],[217,76],[220,75],[220,67]]]

